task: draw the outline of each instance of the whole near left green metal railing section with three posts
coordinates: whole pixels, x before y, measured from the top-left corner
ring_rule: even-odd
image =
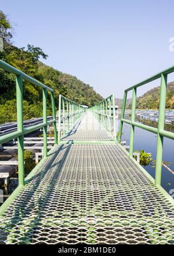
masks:
[[[18,173],[19,173],[19,186],[24,185],[24,135],[29,134],[30,132],[36,131],[40,128],[43,128],[44,133],[44,158],[47,157],[47,126],[53,124],[54,134],[55,134],[55,144],[57,144],[57,131],[56,131],[56,110],[55,110],[55,96],[53,89],[44,85],[43,83],[31,78],[19,71],[19,69],[14,68],[13,66],[6,64],[0,60],[0,68],[9,73],[16,75],[16,105],[17,105],[17,131],[10,132],[9,134],[2,135],[0,137],[0,144],[8,142],[14,138],[17,138],[17,147],[18,147]],[[23,80],[30,82],[32,85],[42,87],[43,93],[43,122],[41,124],[32,125],[31,127],[24,128],[23,125]],[[52,101],[52,120],[47,121],[46,116],[46,101],[47,101],[47,92],[51,94]]]

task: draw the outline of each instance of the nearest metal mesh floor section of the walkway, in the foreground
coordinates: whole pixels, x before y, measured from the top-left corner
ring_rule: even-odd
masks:
[[[119,145],[64,144],[0,227],[6,244],[172,244],[174,209]]]

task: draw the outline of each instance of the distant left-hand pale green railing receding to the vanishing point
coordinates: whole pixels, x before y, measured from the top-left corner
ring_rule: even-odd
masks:
[[[84,114],[85,108],[66,97],[59,95],[58,141],[68,131],[74,128],[75,123]],[[62,125],[61,125],[62,124]]]

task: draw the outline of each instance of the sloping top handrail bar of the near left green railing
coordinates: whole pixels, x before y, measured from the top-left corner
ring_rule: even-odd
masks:
[[[0,68],[3,68],[5,71],[8,71],[10,73],[13,73],[14,75],[22,75],[23,79],[26,80],[27,82],[32,83],[32,85],[37,85],[42,88],[45,88],[46,90],[49,90],[50,92],[54,92],[54,90],[51,89],[50,87],[44,85],[43,83],[39,82],[38,80],[36,80],[34,78],[31,78],[31,76],[26,75],[26,73],[14,68],[13,66],[11,66],[1,60],[0,60]]]

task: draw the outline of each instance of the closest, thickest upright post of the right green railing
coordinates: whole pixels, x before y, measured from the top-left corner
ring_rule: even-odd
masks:
[[[164,138],[162,135],[160,135],[160,130],[164,129],[166,88],[167,88],[167,75],[161,74],[160,107],[159,107],[159,118],[158,118],[158,134],[157,134],[157,156],[156,156],[156,167],[155,167],[155,185],[161,185],[162,150],[163,150]]]

